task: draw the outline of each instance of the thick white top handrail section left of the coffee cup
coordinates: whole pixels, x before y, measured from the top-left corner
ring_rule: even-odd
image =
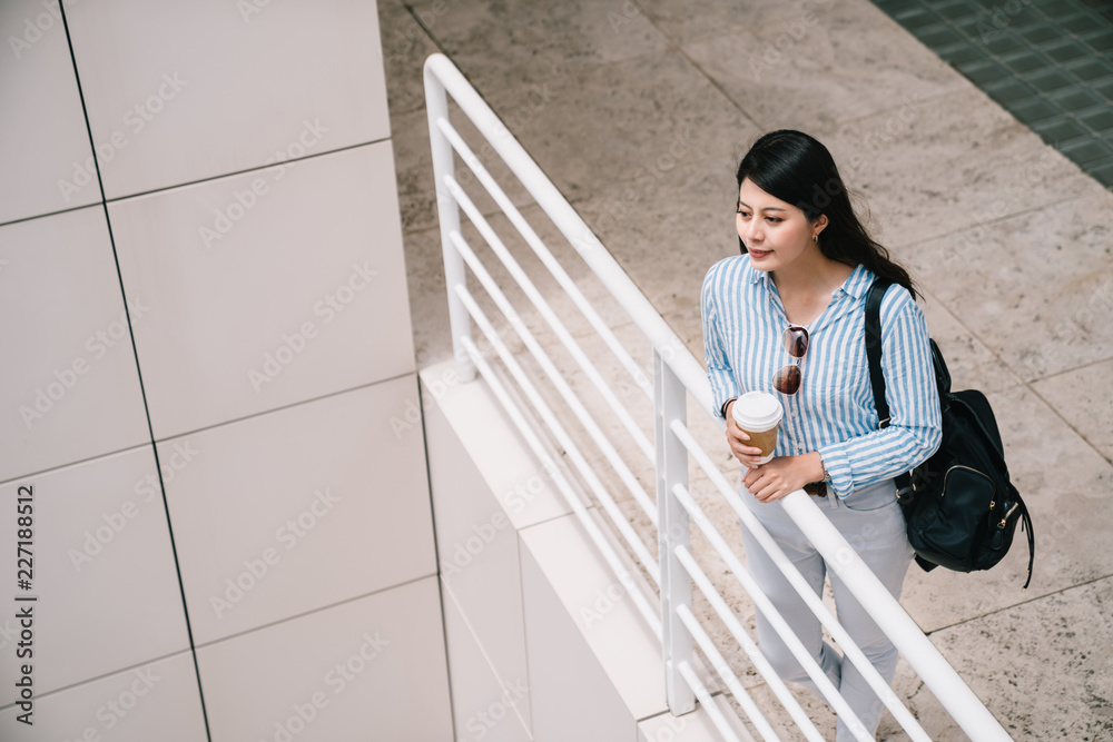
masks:
[[[697,404],[713,414],[715,403],[707,384],[703,367],[688,352],[669,324],[657,311],[641,289],[630,279],[622,266],[603,248],[599,238],[583,221],[572,205],[542,172],[529,152],[506,130],[491,107],[472,88],[471,83],[443,55],[432,55],[425,60],[426,73],[432,73],[452,93],[452,98],[467,115],[481,135],[491,144],[506,166],[525,186],[538,205],[549,215],[556,228],[568,238],[583,261],[595,274],[611,296],[627,311],[634,325],[654,348],[673,349],[666,355],[669,367],[680,378]]]

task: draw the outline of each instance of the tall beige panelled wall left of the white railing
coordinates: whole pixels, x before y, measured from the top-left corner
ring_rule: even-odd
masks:
[[[0,4],[0,739],[449,739],[375,3],[65,12]]]

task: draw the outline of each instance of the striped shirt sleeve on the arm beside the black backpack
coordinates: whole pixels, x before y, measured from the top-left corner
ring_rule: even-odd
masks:
[[[906,290],[895,288],[881,305],[881,370],[888,426],[819,449],[839,497],[918,466],[943,439],[927,321]]]

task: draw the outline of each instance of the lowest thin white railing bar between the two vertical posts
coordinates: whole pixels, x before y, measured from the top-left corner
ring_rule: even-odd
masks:
[[[498,376],[495,376],[494,372],[491,369],[491,366],[483,357],[483,354],[475,346],[475,343],[473,343],[472,339],[466,336],[461,338],[461,343],[463,344],[463,347],[467,353],[467,355],[471,357],[472,363],[475,364],[475,367],[479,369],[480,374],[482,374],[483,378],[486,379],[487,384],[491,387],[491,390],[499,399],[499,403],[502,405],[503,409],[510,416],[511,422],[514,423],[514,427],[516,427],[518,432],[522,434],[523,438],[525,438],[526,445],[530,446],[530,449],[533,452],[533,455],[541,461],[541,464],[542,466],[544,466],[546,472],[553,473],[553,482],[556,484],[556,488],[560,489],[561,494],[564,496],[565,502],[568,502],[569,507],[572,508],[572,512],[580,521],[580,524],[583,526],[584,531],[588,532],[588,537],[591,538],[591,542],[595,545],[595,548],[599,550],[599,553],[603,556],[603,560],[607,562],[608,566],[611,567],[611,572],[614,573],[614,576],[618,577],[620,583],[622,583],[622,586],[626,588],[627,593],[633,601],[634,607],[638,609],[638,612],[641,614],[641,617],[646,620],[646,623],[649,626],[650,631],[653,632],[653,635],[657,636],[658,641],[661,641],[661,620],[660,616],[657,615],[656,609],[650,607],[649,602],[646,600],[646,596],[642,595],[641,588],[634,582],[633,576],[630,574],[629,570],[627,570],[626,566],[622,564],[622,561],[614,552],[614,548],[611,546],[610,542],[607,541],[607,537],[603,535],[602,531],[600,531],[595,522],[591,520],[591,515],[583,506],[583,503],[580,502],[580,498],[577,496],[575,491],[572,488],[571,484],[569,484],[568,479],[564,477],[564,474],[560,471],[560,467],[558,467],[556,463],[545,451],[544,444],[541,443],[541,439],[538,437],[538,434],[533,432],[533,428],[522,416],[522,413],[518,408],[518,405],[514,404],[514,400],[506,392],[502,382],[499,379]]]

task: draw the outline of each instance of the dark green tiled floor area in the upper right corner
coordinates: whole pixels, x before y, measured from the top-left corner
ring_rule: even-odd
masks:
[[[1113,0],[873,0],[1113,189]]]

